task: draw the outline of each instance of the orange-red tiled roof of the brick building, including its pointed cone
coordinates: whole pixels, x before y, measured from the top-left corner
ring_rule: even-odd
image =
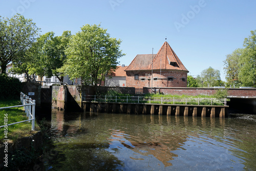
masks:
[[[165,41],[157,54],[153,55],[153,70],[188,70],[184,67],[173,49]],[[137,55],[125,71],[152,70],[152,54]]]

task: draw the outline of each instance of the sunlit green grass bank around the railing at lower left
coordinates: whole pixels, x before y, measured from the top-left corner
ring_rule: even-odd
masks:
[[[0,108],[7,107],[7,106],[21,105],[21,104],[22,103],[20,102],[19,99],[0,100]],[[8,124],[23,121],[23,120],[28,120],[28,117],[26,116],[26,113],[24,112],[23,107],[0,110],[0,126],[4,125],[5,119],[7,121],[7,117],[8,117]],[[18,138],[30,136],[39,130],[40,128],[36,122],[35,122],[35,131],[31,131],[31,122],[22,122],[14,125],[9,125],[7,129],[8,134],[6,134],[7,131],[5,130],[5,127],[1,127],[0,128],[0,144],[3,143],[4,139],[8,139],[10,142],[15,141]]]

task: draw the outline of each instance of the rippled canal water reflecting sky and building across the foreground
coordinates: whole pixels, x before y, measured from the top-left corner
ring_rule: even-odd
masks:
[[[64,113],[47,121],[48,170],[255,170],[256,116]],[[51,159],[51,160],[50,160]]]

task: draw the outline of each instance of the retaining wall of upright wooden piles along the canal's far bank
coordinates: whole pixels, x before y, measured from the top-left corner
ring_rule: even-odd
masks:
[[[83,101],[84,112],[135,115],[227,117],[227,105],[148,104]]]

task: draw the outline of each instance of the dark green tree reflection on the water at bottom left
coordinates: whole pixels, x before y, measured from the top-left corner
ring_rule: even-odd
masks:
[[[55,144],[58,151],[56,160],[48,163],[50,170],[117,170],[122,162],[106,151],[108,143],[63,143]],[[59,157],[60,156],[60,157]]]

